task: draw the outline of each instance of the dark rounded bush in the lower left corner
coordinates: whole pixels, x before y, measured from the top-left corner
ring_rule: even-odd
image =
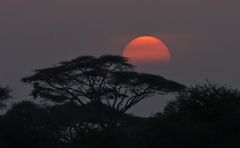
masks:
[[[48,128],[48,113],[35,103],[17,103],[0,119],[0,139],[8,148],[57,147],[54,134]]]

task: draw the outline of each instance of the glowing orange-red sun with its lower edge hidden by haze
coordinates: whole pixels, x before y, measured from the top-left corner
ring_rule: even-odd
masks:
[[[135,62],[168,62],[168,47],[158,38],[141,36],[132,40],[124,49],[123,56]]]

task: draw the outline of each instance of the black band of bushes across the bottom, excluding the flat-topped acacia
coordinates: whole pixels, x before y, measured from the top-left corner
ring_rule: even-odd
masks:
[[[16,104],[0,117],[1,148],[239,147],[240,94],[204,85],[181,93],[150,118],[125,114],[117,126],[75,104]]]

